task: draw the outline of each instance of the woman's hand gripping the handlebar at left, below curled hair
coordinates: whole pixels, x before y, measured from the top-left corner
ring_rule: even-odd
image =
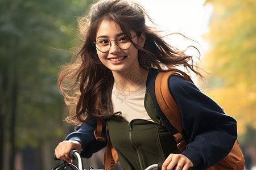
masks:
[[[71,150],[77,150],[81,154],[82,145],[78,141],[63,141],[55,148],[55,155],[57,159],[66,160],[68,163],[73,163],[73,160],[69,158],[69,152]]]

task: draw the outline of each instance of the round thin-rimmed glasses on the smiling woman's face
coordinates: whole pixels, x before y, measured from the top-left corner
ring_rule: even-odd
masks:
[[[131,37],[131,39],[133,39],[135,36]],[[102,38],[102,39],[96,40],[94,44],[100,52],[105,53],[105,52],[108,52],[108,50],[110,49],[112,45],[111,41],[115,41],[115,44],[117,44],[117,46],[121,49],[129,49],[131,46],[131,41],[128,40],[126,36],[118,37],[116,40],[109,40],[109,39]]]

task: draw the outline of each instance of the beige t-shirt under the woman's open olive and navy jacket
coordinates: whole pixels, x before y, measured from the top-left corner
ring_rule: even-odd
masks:
[[[146,83],[135,91],[118,92],[115,85],[112,91],[112,103],[114,112],[121,112],[121,116],[128,122],[134,119],[152,121],[144,107]]]

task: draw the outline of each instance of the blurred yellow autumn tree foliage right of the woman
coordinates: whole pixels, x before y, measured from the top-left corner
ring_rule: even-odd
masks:
[[[238,121],[238,133],[256,129],[256,3],[207,0],[213,6],[205,55],[207,94]]]

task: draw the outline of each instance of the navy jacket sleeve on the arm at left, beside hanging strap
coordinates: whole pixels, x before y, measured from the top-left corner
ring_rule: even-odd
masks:
[[[92,118],[92,121],[77,126],[77,131],[73,131],[65,138],[66,141],[78,141],[81,143],[81,156],[83,158],[90,158],[94,152],[101,150],[108,143],[108,139],[106,138],[106,126],[103,127],[101,134],[101,136],[105,138],[105,141],[96,140],[94,136],[96,126],[96,118]]]

